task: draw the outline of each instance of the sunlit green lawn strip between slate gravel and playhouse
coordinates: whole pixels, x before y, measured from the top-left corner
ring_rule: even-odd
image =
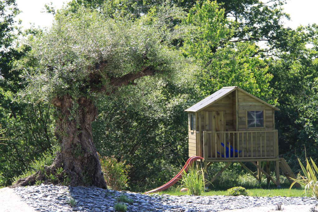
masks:
[[[303,196],[303,189],[293,188],[289,190],[289,188],[249,188],[247,189],[249,196]],[[168,195],[187,195],[187,192],[181,193],[179,188],[171,188],[165,191],[158,192],[157,194],[168,194]],[[208,192],[204,192],[202,195],[210,196],[210,195],[227,195],[226,190],[212,190]]]

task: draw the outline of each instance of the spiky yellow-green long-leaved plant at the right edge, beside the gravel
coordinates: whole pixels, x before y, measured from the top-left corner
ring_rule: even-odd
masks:
[[[318,199],[318,181],[317,181],[318,168],[312,158],[310,158],[310,161],[312,166],[310,165],[308,158],[306,158],[307,164],[305,168],[304,165],[301,163],[301,161],[298,159],[298,162],[301,166],[301,170],[304,173],[304,176],[298,175],[297,179],[292,178],[294,182],[290,185],[289,190],[292,188],[292,186],[295,183],[298,182],[299,184],[305,187],[304,189],[305,195],[311,193],[313,197]]]

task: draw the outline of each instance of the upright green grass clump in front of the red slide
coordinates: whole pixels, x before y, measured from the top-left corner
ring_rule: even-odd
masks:
[[[199,166],[190,166],[188,173],[183,170],[181,186],[188,188],[188,194],[201,195],[204,192],[204,173]]]

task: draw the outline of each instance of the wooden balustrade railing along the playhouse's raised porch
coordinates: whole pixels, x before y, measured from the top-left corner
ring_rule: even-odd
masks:
[[[203,131],[204,160],[278,158],[277,130]]]

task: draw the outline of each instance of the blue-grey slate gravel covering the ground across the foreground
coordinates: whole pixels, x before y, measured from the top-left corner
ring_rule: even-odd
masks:
[[[4,189],[4,190],[3,190]],[[55,185],[40,185],[19,187],[15,189],[0,189],[0,200],[4,193],[14,191],[21,201],[17,201],[17,196],[13,201],[7,198],[7,202],[27,203],[34,207],[36,211],[115,211],[114,205],[117,198],[125,195],[131,199],[127,205],[127,211],[229,211],[229,212],[262,212],[274,211],[277,203],[282,203],[284,211],[288,212],[309,212],[317,205],[318,201],[309,197],[250,197],[250,196],[169,196],[169,195],[144,195],[140,193],[126,191],[112,191],[95,187],[66,187]],[[72,205],[70,200],[76,201]],[[2,204],[1,204],[2,205]],[[10,204],[9,204],[10,205]],[[24,204],[23,207],[29,208]],[[2,207],[0,208],[2,210]],[[4,210],[18,211],[18,210]],[[26,210],[21,210],[26,211]],[[32,211],[32,210],[31,210]],[[31,212],[28,211],[28,212]],[[33,212],[33,211],[32,211]]]

